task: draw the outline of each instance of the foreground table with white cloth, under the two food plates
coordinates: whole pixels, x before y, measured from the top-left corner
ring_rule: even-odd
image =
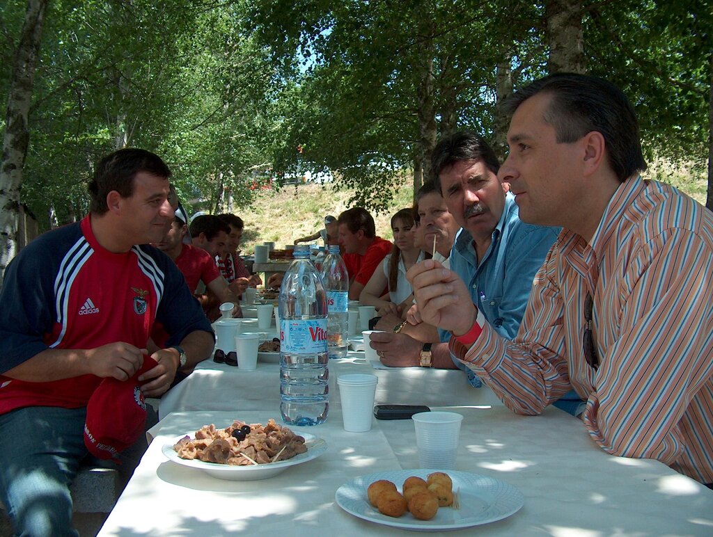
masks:
[[[456,470],[501,479],[522,491],[520,511],[463,533],[713,534],[713,491],[660,462],[606,454],[580,420],[565,412],[548,408],[540,416],[514,415],[487,387],[469,387],[457,370],[376,370],[362,357],[349,353],[346,359],[330,360],[329,418],[304,429],[322,437],[327,452],[264,481],[214,479],[170,462],[161,452],[167,442],[204,424],[279,421],[277,364],[259,363],[254,372],[245,372],[202,363],[165,396],[162,419],[149,432],[153,442],[100,535],[405,533],[362,521],[334,501],[339,486],[357,476],[418,467],[411,420],[374,419],[366,433],[342,429],[335,380],[346,372],[374,372],[379,377],[376,402],[460,412]]]

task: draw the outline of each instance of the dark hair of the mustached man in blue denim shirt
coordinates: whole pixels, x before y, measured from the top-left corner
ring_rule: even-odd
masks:
[[[441,177],[439,176],[445,168],[456,164],[456,162],[461,162],[461,160],[478,159],[485,162],[488,170],[498,174],[498,170],[500,170],[498,157],[488,142],[476,135],[475,132],[461,130],[442,138],[431,153],[431,174],[438,192],[441,192]]]

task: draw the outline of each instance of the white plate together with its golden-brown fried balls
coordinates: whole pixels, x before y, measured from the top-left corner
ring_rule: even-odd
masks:
[[[342,485],[337,504],[364,520],[415,531],[469,528],[511,516],[524,504],[511,484],[464,471],[381,471]]]

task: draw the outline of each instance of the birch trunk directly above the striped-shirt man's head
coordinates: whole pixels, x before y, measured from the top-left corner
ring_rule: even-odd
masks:
[[[548,72],[585,73],[582,4],[577,0],[548,0],[545,36],[550,47]]]

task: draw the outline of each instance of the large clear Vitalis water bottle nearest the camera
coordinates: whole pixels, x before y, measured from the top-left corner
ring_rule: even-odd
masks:
[[[289,425],[317,425],[329,412],[327,293],[309,247],[293,255],[279,290],[280,413]]]

